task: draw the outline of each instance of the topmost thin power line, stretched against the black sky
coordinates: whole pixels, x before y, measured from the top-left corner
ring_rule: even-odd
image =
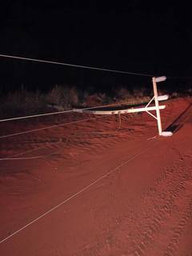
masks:
[[[25,58],[25,57],[21,57],[21,56],[6,55],[6,54],[0,54],[0,57],[14,58],[14,59],[20,59],[20,60],[25,60],[25,61],[30,61],[30,62],[42,62],[42,63],[56,64],[56,65],[61,65],[61,66],[70,66],[70,67],[82,68],[82,69],[87,69],[87,70],[100,70],[100,71],[113,72],[113,73],[119,73],[119,74],[132,74],[132,75],[145,76],[145,77],[151,77],[151,78],[154,77],[153,74],[127,72],[127,71],[122,71],[122,70],[110,70],[110,69],[99,68],[99,67],[94,67],[94,66],[83,66],[83,65],[76,65],[76,64],[70,64],[70,63],[65,63],[65,62],[46,61],[46,60],[38,59],[38,58]]]

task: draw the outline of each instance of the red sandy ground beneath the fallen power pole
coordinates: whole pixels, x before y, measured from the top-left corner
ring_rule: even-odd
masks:
[[[192,255],[191,102],[166,102],[171,138],[145,113],[119,129],[82,114],[1,123],[0,136],[93,118],[0,138],[1,158],[23,158],[1,161],[0,255]]]

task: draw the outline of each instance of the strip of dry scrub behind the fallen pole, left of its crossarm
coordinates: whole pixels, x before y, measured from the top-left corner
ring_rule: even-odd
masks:
[[[175,95],[173,94],[173,97]],[[102,106],[114,102],[127,102],[130,105],[149,102],[144,88],[127,90],[120,87],[118,90],[107,92],[93,92],[79,90],[75,86],[54,86],[47,93],[18,90],[8,94],[0,102],[0,113],[5,115],[38,114],[50,111],[50,106],[56,110],[69,110],[75,107]]]

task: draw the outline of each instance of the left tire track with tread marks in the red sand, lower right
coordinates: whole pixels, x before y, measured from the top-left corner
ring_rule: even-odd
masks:
[[[146,251],[155,242],[155,239],[158,239],[158,232],[161,230],[162,225],[165,224],[166,218],[175,210],[175,200],[185,194],[186,182],[191,178],[190,170],[186,170],[186,166],[182,163],[179,163],[179,168],[178,162],[172,168],[166,168],[162,176],[154,182],[154,185],[150,186],[142,194],[142,205],[139,206],[139,209],[130,209],[129,206],[126,206],[123,211],[124,215],[108,219],[107,232],[103,238],[97,238],[96,243],[86,246],[77,255],[108,255],[112,247],[113,251],[115,249],[117,252],[119,250],[126,251],[125,255],[148,255]],[[155,202],[153,202],[153,207],[151,206],[152,198],[156,198]],[[146,214],[151,215],[152,218],[144,225],[138,222],[137,217],[135,218],[135,216],[139,216],[140,220],[142,218],[145,219]],[[125,226],[128,226],[127,230],[129,230],[129,223],[133,222],[134,224],[138,222],[138,225],[134,225],[134,230],[132,231],[132,237],[137,238],[136,241],[130,238],[127,239],[128,234],[122,231],[126,229]],[[135,230],[137,226],[138,228]],[[118,240],[119,232],[123,233],[124,239]],[[108,238],[110,238],[110,245]]]

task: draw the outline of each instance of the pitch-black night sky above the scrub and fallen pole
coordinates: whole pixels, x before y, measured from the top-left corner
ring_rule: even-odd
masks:
[[[130,72],[190,76],[190,6],[167,1],[4,2],[0,54]],[[0,58],[2,86],[103,86],[138,78]],[[142,78],[139,78],[142,79]],[[143,78],[144,79],[144,78]],[[146,79],[146,78],[145,78]],[[148,78],[149,79],[149,78]],[[146,80],[145,80],[146,81]]]

